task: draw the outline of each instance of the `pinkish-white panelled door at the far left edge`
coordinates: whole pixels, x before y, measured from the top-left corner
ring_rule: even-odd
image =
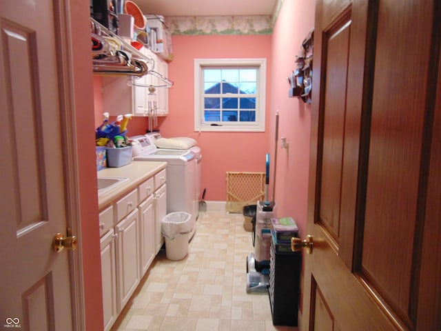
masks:
[[[0,327],[72,330],[56,1],[0,1]]]

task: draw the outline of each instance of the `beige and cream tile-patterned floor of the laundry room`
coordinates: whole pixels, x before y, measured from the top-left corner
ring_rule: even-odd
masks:
[[[170,261],[161,250],[112,331],[297,330],[274,326],[268,294],[247,294],[247,255],[254,252],[242,214],[201,212],[189,254]]]

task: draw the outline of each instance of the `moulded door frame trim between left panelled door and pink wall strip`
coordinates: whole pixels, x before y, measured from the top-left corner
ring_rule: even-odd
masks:
[[[76,109],[74,98],[73,79],[73,45],[72,36],[73,17],[69,1],[58,0],[54,3],[55,25],[59,39],[57,40],[57,52],[60,55],[59,61],[59,84],[63,84],[59,90],[60,102],[60,123],[69,123],[61,130],[65,186],[65,214],[66,227],[72,229],[72,234],[79,237],[79,245],[76,250],[69,250],[69,274],[70,274],[70,300],[72,305],[72,330],[85,329],[84,314],[84,281],[83,281],[83,252],[81,245],[81,210],[79,199],[79,173],[78,155],[76,150]],[[61,151],[60,151],[61,152]]]

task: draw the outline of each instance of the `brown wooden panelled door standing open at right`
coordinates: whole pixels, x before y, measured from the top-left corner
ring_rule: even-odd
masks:
[[[317,1],[302,330],[441,330],[440,1]]]

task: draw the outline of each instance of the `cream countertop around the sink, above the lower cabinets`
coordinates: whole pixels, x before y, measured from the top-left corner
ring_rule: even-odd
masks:
[[[117,185],[115,188],[107,190],[98,196],[98,208],[103,208],[110,205],[115,199],[118,199],[123,194],[133,190],[146,179],[152,177],[156,172],[165,169],[167,162],[157,161],[132,161],[120,168],[105,168],[96,172],[98,178],[100,177],[124,177],[128,181]]]

